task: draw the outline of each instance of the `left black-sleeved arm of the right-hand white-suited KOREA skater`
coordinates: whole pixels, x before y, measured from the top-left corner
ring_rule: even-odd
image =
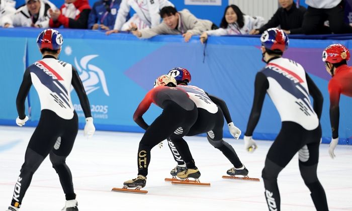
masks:
[[[253,131],[258,124],[268,88],[269,81],[267,77],[262,72],[258,72],[255,76],[253,105],[248,119],[247,130],[244,134],[245,136],[252,136]]]

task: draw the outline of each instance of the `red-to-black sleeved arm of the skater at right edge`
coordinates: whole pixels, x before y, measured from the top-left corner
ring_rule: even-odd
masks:
[[[331,124],[331,132],[332,138],[338,138],[338,125],[340,119],[340,94],[341,87],[338,83],[335,83],[333,79],[330,80],[328,85],[329,95],[330,95],[330,124]]]

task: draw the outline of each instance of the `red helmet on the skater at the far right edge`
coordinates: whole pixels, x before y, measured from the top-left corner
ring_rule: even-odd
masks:
[[[330,62],[332,64],[339,63],[343,60],[349,60],[349,50],[341,44],[329,45],[321,56],[324,62]]]

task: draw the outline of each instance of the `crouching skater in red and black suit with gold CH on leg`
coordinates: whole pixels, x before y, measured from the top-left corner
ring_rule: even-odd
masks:
[[[154,88],[148,91],[138,105],[133,120],[145,130],[138,148],[138,177],[124,182],[125,186],[137,188],[145,186],[150,150],[168,137],[171,137],[174,144],[180,149],[187,168],[192,169],[191,177],[199,178],[200,172],[186,141],[182,138],[197,121],[198,110],[187,92],[176,86],[177,83],[173,77],[162,75],[155,80]],[[143,120],[142,115],[149,109],[151,103],[156,104],[163,111],[149,126]]]

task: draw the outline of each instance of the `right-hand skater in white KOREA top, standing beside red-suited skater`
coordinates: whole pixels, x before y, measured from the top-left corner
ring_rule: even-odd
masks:
[[[301,176],[311,192],[315,208],[326,211],[325,191],[317,177],[323,96],[300,64],[282,57],[289,45],[289,38],[282,30],[268,29],[260,41],[263,61],[267,65],[255,76],[253,106],[244,135],[245,149],[249,152],[256,149],[252,134],[268,93],[282,121],[281,131],[269,149],[262,170],[268,208],[280,211],[277,178],[298,152]],[[309,95],[313,97],[313,107]]]

